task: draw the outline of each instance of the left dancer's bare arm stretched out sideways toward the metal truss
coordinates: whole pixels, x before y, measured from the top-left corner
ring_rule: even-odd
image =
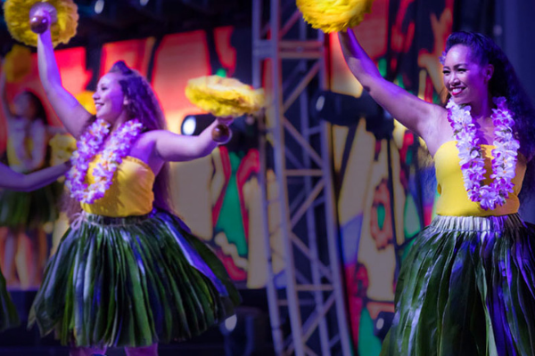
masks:
[[[155,153],[164,161],[189,161],[208,156],[218,147],[218,142],[212,140],[211,132],[218,125],[218,120],[205,128],[198,136],[173,134],[159,130],[152,132]]]

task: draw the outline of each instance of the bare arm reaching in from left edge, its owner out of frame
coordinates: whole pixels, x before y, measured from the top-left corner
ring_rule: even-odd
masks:
[[[70,162],[51,166],[30,174],[20,174],[0,164],[0,188],[30,191],[45,187],[70,169]]]

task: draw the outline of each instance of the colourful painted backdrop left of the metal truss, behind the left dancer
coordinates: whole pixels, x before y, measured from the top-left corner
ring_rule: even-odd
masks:
[[[91,106],[91,93],[87,93],[92,89],[90,83],[110,69],[113,62],[126,61],[128,66],[151,79],[169,130],[176,133],[180,133],[184,117],[202,114],[185,98],[184,89],[189,78],[219,74],[251,83],[251,30],[248,28],[213,28],[158,39],[151,37],[104,44],[100,63],[96,65],[86,63],[86,58],[94,58],[86,54],[86,49],[81,47],[56,51],[63,85],[71,93],[79,93],[83,98],[80,100]],[[35,55],[33,61],[29,76],[20,84],[7,87],[10,98],[29,87],[45,99],[37,76]],[[98,73],[92,68],[99,69]],[[48,103],[46,109],[51,125],[61,126]],[[257,177],[259,152],[255,122],[242,119],[240,123],[236,125],[230,144],[215,150],[207,158],[171,166],[172,193],[177,213],[193,232],[216,250],[237,284],[263,287],[267,268],[262,248],[263,215]],[[198,125],[204,124],[206,122],[202,120],[198,122]],[[3,117],[0,126],[0,131],[5,133]],[[4,149],[5,137],[2,135],[0,152]],[[52,253],[66,225],[65,220],[55,224],[49,241]],[[0,248],[0,259],[2,253]],[[25,258],[23,251],[19,258]]]

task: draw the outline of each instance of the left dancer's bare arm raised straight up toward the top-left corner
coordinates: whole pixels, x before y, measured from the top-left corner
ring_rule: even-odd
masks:
[[[91,114],[62,85],[60,69],[53,54],[50,28],[37,35],[37,64],[48,101],[67,131],[78,138],[86,128]]]

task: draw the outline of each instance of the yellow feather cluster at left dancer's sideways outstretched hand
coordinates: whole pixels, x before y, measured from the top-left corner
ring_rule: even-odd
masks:
[[[264,91],[252,89],[237,79],[208,76],[190,79],[185,96],[216,117],[254,114],[264,106]]]

